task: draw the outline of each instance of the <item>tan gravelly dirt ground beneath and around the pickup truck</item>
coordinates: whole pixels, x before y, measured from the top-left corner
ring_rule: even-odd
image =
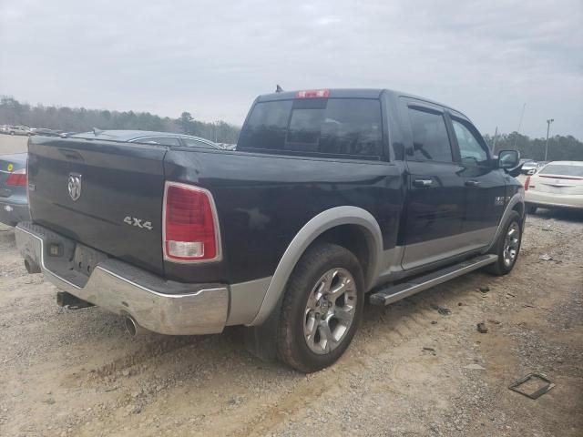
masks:
[[[583,215],[540,210],[510,275],[366,306],[343,359],[306,376],[230,332],[132,339],[104,310],[59,308],[1,228],[0,435],[583,435],[582,238]],[[508,390],[530,372],[555,388]]]

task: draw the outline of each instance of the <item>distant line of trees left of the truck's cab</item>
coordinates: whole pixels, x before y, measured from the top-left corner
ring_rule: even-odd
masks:
[[[14,97],[0,97],[0,125],[45,127],[66,132],[99,129],[155,130],[203,137],[219,143],[236,143],[240,127],[224,121],[196,120],[189,112],[179,118],[159,117],[149,112],[109,111],[85,107],[53,107],[21,103]]]

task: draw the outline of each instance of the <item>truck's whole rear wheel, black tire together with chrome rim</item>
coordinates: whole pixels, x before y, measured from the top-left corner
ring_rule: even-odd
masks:
[[[342,293],[334,297],[333,290]],[[285,290],[277,335],[279,359],[306,373],[331,366],[353,340],[363,306],[363,269],[353,252],[330,243],[312,246]]]

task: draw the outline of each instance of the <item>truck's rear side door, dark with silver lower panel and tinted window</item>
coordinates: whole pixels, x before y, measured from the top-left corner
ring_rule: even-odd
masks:
[[[404,269],[464,251],[464,168],[460,166],[442,107],[408,101],[411,144],[405,147],[408,200],[404,220]]]

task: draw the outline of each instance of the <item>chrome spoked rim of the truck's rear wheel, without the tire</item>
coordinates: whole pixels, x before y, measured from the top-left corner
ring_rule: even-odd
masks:
[[[310,350],[318,354],[336,349],[353,324],[356,284],[347,269],[330,269],[318,279],[304,313],[303,334]]]

